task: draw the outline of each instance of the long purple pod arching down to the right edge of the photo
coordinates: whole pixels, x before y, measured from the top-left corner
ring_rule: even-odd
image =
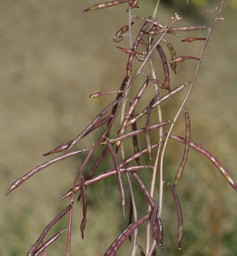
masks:
[[[170,134],[171,139],[175,139],[177,142],[185,143],[185,139],[177,136],[175,134]],[[190,142],[189,146],[191,146],[193,149],[196,149],[200,153],[204,154],[209,160],[212,161],[212,163],[219,169],[221,174],[227,179],[228,183],[237,191],[237,183],[236,181],[231,178],[230,174],[228,174],[228,171],[224,169],[224,167],[221,165],[221,163],[206,149],[202,148],[202,146],[197,145],[194,142]]]

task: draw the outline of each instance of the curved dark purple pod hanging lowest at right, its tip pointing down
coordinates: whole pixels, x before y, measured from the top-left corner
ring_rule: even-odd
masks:
[[[182,210],[180,206],[180,201],[177,196],[177,193],[175,192],[175,188],[170,185],[169,182],[164,181],[168,188],[170,188],[170,192],[172,193],[172,197],[174,198],[175,201],[175,206],[177,210],[177,220],[178,220],[178,234],[177,234],[177,242],[178,242],[178,248],[181,249],[181,241],[182,241]]]

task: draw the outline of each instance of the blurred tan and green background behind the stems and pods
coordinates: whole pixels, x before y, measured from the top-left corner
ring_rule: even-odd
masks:
[[[170,23],[175,12],[182,24],[210,25],[208,14],[220,1],[169,1],[160,5],[160,22]],[[43,163],[42,154],[74,138],[114,96],[89,99],[92,92],[118,90],[127,56],[112,40],[114,33],[127,23],[124,5],[83,13],[96,1],[22,0],[1,1],[0,9],[0,117],[1,117],[1,198],[0,252],[3,256],[26,255],[45,225],[68,201],[55,200],[72,186],[84,155],[50,166],[26,181],[6,198],[3,196],[16,178]],[[150,16],[155,1],[140,1],[142,9],[133,11]],[[209,150],[237,179],[236,149],[236,5],[227,3],[216,24],[197,82],[186,107],[192,124],[192,141]],[[140,21],[133,25],[136,33]],[[204,36],[206,31],[189,33]],[[183,38],[187,33],[182,34]],[[171,38],[174,44],[180,38]],[[126,46],[127,38],[120,46]],[[195,46],[195,47],[194,47]],[[177,55],[199,56],[201,42],[182,43]],[[156,56],[156,57],[155,57]],[[154,62],[158,55],[154,55]],[[190,80],[196,63],[180,63],[177,75],[171,73],[172,86]],[[162,74],[162,72],[160,73]],[[150,90],[152,92],[152,90]],[[144,97],[150,100],[153,95]],[[184,92],[165,102],[164,119],[172,119]],[[145,102],[144,104],[147,104]],[[140,126],[143,126],[140,124]],[[175,127],[184,134],[183,115]],[[79,148],[90,148],[99,134],[82,140]],[[158,135],[153,133],[153,139]],[[144,144],[145,145],[145,144]],[[140,146],[142,147],[142,146]],[[183,145],[168,144],[165,156],[165,179],[172,182],[182,159]],[[154,159],[155,157],[153,157]],[[143,159],[145,161],[145,159]],[[148,162],[149,164],[150,162]],[[108,161],[100,169],[111,168]],[[89,170],[87,170],[89,171]],[[149,174],[140,172],[149,187]],[[139,216],[147,208],[136,188]],[[126,184],[127,188],[127,184]],[[85,238],[79,225],[81,202],[73,215],[72,255],[103,255],[103,252],[126,228],[120,209],[116,179],[110,178],[87,189],[89,209]],[[237,255],[237,195],[209,160],[190,150],[184,175],[177,186],[184,220],[182,250],[177,250],[177,216],[170,192],[165,188],[162,221],[165,246],[157,255]],[[128,192],[126,193],[128,196]],[[158,198],[158,189],[156,198]],[[63,218],[50,235],[67,226]],[[144,227],[138,243],[145,248]],[[52,245],[47,255],[65,255],[66,233]],[[118,255],[130,255],[131,244],[124,243]]]

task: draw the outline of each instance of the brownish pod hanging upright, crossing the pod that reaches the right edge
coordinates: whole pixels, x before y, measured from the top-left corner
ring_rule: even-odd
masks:
[[[187,110],[185,110],[185,124],[186,124],[186,139],[185,139],[185,147],[184,147],[184,155],[182,157],[182,162],[180,163],[180,167],[177,170],[177,174],[175,176],[175,183],[174,187],[177,185],[177,183],[180,181],[180,178],[182,176],[182,172],[184,171],[184,166],[187,162],[187,155],[189,154],[189,143],[190,143],[190,118],[189,118],[189,113]]]

